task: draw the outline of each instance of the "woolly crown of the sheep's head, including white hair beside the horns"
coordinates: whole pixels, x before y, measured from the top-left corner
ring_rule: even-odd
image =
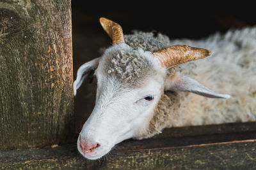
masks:
[[[104,52],[99,68],[105,76],[115,76],[123,84],[140,85],[150,75],[165,73],[159,60],[151,52],[142,48],[133,48],[124,43],[111,46]]]

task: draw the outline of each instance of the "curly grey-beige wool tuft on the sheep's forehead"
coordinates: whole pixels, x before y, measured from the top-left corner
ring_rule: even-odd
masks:
[[[143,50],[131,48],[123,45],[122,50],[110,49],[106,51],[106,66],[105,73],[107,75],[114,75],[123,84],[131,83],[138,84],[143,81],[146,74],[154,72],[150,63],[143,55]]]

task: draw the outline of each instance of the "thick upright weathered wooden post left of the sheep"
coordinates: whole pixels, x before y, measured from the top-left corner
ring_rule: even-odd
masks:
[[[0,1],[0,150],[72,141],[70,0]]]

